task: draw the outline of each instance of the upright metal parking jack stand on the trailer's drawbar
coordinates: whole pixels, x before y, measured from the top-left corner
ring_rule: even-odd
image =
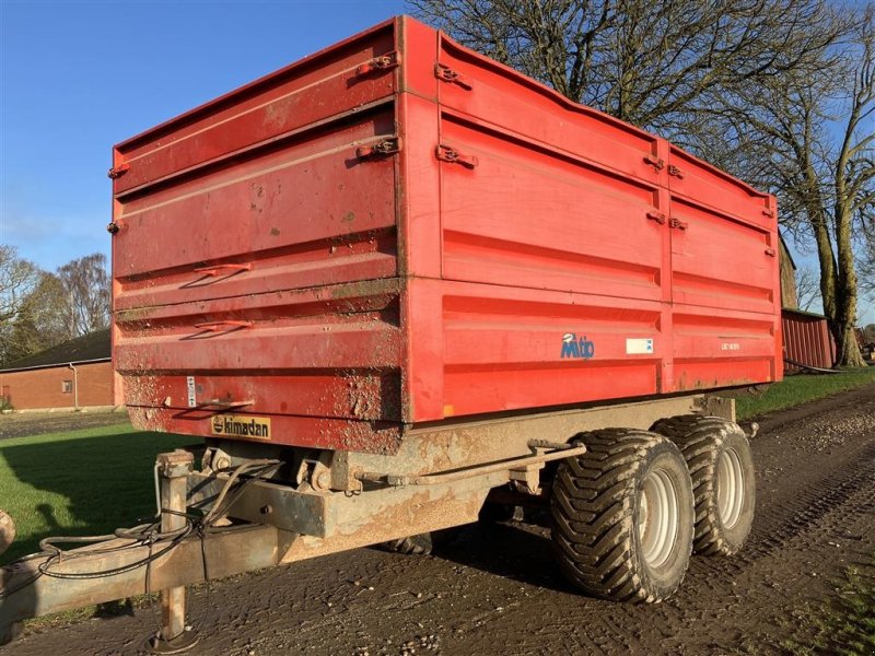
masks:
[[[186,525],[186,484],[195,457],[186,450],[159,454],[158,466],[161,499],[161,532],[170,534]],[[198,636],[186,631],[185,586],[161,591],[161,631],[149,639],[153,654],[182,654],[194,647]]]

